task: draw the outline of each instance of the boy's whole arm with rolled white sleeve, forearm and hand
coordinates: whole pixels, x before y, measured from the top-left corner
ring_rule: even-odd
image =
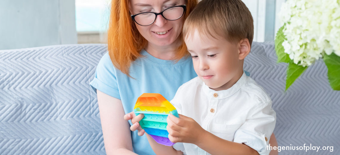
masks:
[[[204,130],[192,118],[169,115],[167,130],[172,142],[192,143],[210,154],[268,155],[268,138],[273,133],[276,114],[271,101],[254,107],[247,120],[236,131],[234,142],[224,140]]]

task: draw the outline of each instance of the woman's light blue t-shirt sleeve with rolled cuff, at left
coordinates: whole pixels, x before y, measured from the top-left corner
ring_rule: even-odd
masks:
[[[100,59],[96,68],[95,77],[90,82],[90,86],[95,93],[97,93],[96,89],[98,89],[109,96],[120,99],[116,70],[111,62],[108,52],[106,52]]]

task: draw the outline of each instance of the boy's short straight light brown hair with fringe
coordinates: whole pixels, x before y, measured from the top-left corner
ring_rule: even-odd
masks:
[[[183,36],[193,36],[194,30],[202,36],[221,36],[236,43],[248,38],[253,42],[253,17],[241,0],[202,0],[183,25]]]

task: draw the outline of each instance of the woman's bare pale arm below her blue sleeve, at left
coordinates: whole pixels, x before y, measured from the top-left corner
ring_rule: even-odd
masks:
[[[97,90],[100,121],[107,155],[137,155],[132,149],[130,125],[121,100]]]

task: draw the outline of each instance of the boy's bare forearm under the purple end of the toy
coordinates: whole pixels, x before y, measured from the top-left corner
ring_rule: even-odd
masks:
[[[158,144],[149,134],[145,133],[145,135],[156,155],[183,155],[182,151],[177,151],[173,147]]]

